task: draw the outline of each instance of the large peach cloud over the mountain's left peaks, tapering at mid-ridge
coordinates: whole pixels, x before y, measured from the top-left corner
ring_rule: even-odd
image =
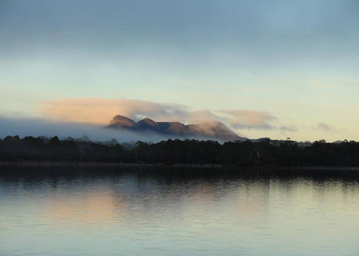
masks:
[[[187,109],[187,106],[181,104],[111,98],[57,98],[39,104],[39,112],[50,120],[101,126],[108,125],[116,115],[135,121],[145,117],[171,120],[174,116],[184,116]]]

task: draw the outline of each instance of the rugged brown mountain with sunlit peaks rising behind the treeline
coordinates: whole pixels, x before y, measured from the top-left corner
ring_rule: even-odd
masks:
[[[104,128],[127,129],[136,132],[152,131],[162,135],[178,137],[205,137],[211,140],[234,141],[245,140],[236,133],[226,128],[219,122],[211,122],[197,125],[184,125],[179,122],[155,122],[145,118],[137,123],[132,119],[120,115],[115,116],[110,125]]]

